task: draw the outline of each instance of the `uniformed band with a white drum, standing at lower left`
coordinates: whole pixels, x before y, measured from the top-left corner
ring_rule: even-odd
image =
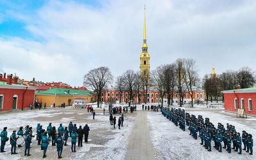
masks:
[[[1,152],[4,151],[4,146],[6,145],[6,142],[8,142],[8,133],[6,131],[7,127],[4,127],[3,131],[1,131]],[[68,137],[71,138],[71,150],[72,152],[76,152],[76,142],[78,138],[78,147],[83,146],[83,136],[84,136],[84,142],[88,142],[88,135],[89,135],[90,127],[88,127],[88,124],[85,124],[85,126],[82,128],[82,126],[79,126],[77,128],[76,124],[72,124],[70,122],[68,124],[68,127],[63,127],[62,124],[56,129],[55,126],[52,126],[51,123],[49,123],[49,126],[43,128],[42,125],[38,124],[36,127],[36,140],[37,144],[40,145],[41,150],[44,150],[43,158],[46,157],[47,147],[50,142],[52,142],[52,146],[56,146],[57,152],[58,152],[58,158],[61,158],[63,145],[67,145]],[[17,154],[16,147],[17,147],[17,139],[19,136],[24,137],[25,141],[25,153],[24,156],[31,156],[30,154],[30,148],[32,143],[32,138],[35,137],[33,135],[32,127],[26,126],[24,131],[23,127],[21,126],[19,128],[19,131],[16,134],[16,131],[13,131],[12,135],[10,136],[10,144],[11,147],[11,154]],[[18,147],[22,147],[21,145],[18,145]]]

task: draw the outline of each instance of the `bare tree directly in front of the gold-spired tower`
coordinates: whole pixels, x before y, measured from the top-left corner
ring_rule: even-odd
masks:
[[[141,75],[141,85],[143,89],[143,101],[147,104],[147,93],[150,87],[151,79],[150,79],[150,71],[145,70]]]

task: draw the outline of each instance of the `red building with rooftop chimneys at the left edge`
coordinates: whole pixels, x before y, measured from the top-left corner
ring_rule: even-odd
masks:
[[[17,84],[18,78],[0,74],[0,112],[23,110],[34,104],[36,88]]]

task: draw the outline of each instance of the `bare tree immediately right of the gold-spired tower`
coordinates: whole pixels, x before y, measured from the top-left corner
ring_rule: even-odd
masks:
[[[155,89],[159,92],[161,98],[161,106],[163,106],[164,96],[166,94],[166,87],[164,83],[164,67],[159,66],[152,71],[152,84]],[[159,100],[158,100],[159,101]]]

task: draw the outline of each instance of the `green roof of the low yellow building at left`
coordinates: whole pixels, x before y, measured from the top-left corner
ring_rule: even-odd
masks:
[[[90,96],[93,92],[91,91],[84,91],[79,89],[61,89],[61,88],[54,88],[49,89],[47,91],[40,91],[36,92],[36,95],[72,95],[72,96]]]

